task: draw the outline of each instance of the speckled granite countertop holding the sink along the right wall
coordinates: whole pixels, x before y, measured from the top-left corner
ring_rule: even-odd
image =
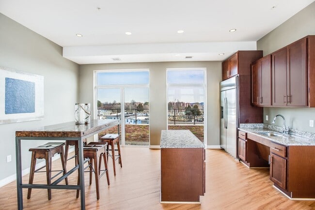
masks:
[[[238,128],[240,131],[244,131],[247,133],[252,133],[259,137],[263,137],[269,139],[272,142],[276,142],[285,146],[315,146],[315,138],[306,138],[297,135],[286,135],[281,132],[266,128],[266,127],[246,127],[246,128]],[[284,136],[267,136],[262,135],[262,132],[271,132]]]

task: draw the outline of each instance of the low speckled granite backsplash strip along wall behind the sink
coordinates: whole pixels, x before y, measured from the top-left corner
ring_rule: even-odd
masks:
[[[239,124],[239,127],[240,128],[266,128],[273,131],[277,131],[279,133],[282,133],[282,129],[283,129],[281,126],[269,125],[269,124],[263,124],[263,123],[241,123]],[[297,135],[304,138],[315,139],[315,133],[307,132],[307,131],[299,131],[292,128],[290,128],[290,135]]]

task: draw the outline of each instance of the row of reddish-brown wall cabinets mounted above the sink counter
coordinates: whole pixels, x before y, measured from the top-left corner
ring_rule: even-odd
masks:
[[[315,35],[306,36],[252,63],[252,104],[315,107]]]

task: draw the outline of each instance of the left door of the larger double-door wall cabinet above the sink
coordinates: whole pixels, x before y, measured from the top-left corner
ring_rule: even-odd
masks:
[[[286,47],[272,54],[272,105],[286,106]]]

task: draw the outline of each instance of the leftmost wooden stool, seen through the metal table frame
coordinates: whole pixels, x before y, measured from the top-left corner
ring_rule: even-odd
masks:
[[[29,151],[31,151],[31,169],[30,169],[30,179],[29,184],[33,183],[34,179],[34,173],[35,172],[45,172],[45,171],[39,171],[40,169],[44,168],[45,166],[35,170],[36,165],[36,159],[43,159],[46,160],[46,178],[47,178],[47,184],[51,184],[51,180],[58,176],[60,173],[63,172],[63,174],[66,173],[65,168],[65,158],[63,155],[63,142],[49,142],[47,144],[44,144],[42,146],[31,148]],[[63,165],[63,170],[60,170],[59,173],[57,173],[55,176],[51,177],[51,158],[56,154],[60,154],[61,164]],[[68,178],[65,178],[65,184],[68,184]],[[51,189],[48,190],[48,200],[51,199]],[[28,189],[27,192],[27,199],[31,198],[31,188]]]

